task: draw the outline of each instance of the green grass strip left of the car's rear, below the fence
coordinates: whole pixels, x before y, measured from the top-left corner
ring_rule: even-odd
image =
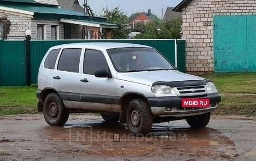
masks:
[[[0,87],[0,114],[35,113],[36,87]]]

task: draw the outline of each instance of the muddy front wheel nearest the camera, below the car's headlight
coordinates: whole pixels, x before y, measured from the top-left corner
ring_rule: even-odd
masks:
[[[153,116],[145,100],[130,101],[126,111],[126,123],[129,131],[136,136],[145,135],[151,131]]]

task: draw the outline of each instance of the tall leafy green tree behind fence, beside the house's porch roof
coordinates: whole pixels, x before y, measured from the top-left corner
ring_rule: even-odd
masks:
[[[126,24],[128,23],[127,14],[119,7],[112,8],[111,10],[108,7],[103,8],[103,13],[108,22],[119,25],[117,29],[113,29],[112,38],[127,39],[130,33],[130,30],[126,29]]]

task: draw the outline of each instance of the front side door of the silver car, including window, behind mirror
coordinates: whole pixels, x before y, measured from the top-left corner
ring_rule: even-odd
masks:
[[[116,80],[95,77],[96,70],[106,70],[110,73],[104,54],[99,50],[86,49],[83,73],[80,77],[81,102],[97,103],[97,107],[99,104],[115,104]]]

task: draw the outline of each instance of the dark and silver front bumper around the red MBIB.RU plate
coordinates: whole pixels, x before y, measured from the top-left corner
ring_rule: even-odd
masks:
[[[148,103],[150,105],[153,116],[158,117],[188,117],[199,114],[213,112],[218,103],[221,102],[220,94],[208,94],[198,98],[210,99],[211,107],[208,108],[181,108],[181,100],[179,96],[170,97],[149,97]]]

